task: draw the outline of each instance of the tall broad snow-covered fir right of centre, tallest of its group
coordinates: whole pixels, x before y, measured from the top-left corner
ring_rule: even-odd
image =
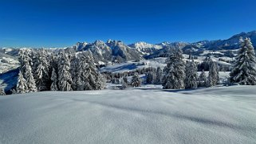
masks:
[[[185,88],[185,64],[181,49],[172,49],[167,58],[167,66],[163,69],[163,89]]]

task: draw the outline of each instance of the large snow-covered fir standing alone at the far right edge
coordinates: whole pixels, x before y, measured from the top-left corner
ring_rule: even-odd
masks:
[[[240,42],[240,49],[230,72],[230,82],[242,85],[256,84],[256,59],[250,38]]]

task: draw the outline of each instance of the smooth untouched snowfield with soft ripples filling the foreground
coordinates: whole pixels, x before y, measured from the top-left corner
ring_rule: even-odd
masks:
[[[0,96],[0,143],[255,143],[255,88]]]

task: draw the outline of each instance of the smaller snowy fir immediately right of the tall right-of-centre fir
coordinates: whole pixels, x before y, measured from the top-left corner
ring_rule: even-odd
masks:
[[[198,87],[198,76],[197,67],[194,60],[188,61],[186,64],[186,78],[185,78],[185,88],[195,89]]]

